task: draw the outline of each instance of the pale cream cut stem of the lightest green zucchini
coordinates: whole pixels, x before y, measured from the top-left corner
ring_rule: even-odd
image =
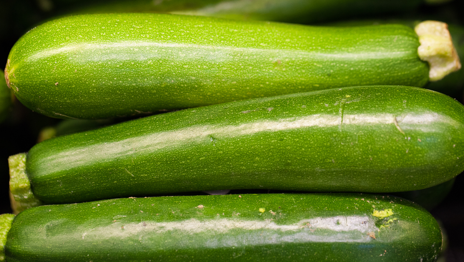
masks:
[[[430,81],[438,81],[461,68],[446,23],[428,20],[417,25],[414,31],[419,36],[419,58],[430,65]]]

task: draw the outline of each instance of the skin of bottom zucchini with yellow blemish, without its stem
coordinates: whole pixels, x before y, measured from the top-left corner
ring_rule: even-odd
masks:
[[[374,216],[383,209],[393,214]],[[405,199],[260,194],[34,207],[14,219],[5,253],[7,262],[432,262],[441,243],[435,219]]]

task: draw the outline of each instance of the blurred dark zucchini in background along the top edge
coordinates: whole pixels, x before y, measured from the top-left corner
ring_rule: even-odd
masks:
[[[315,23],[357,16],[406,13],[424,0],[106,0],[68,7],[73,13],[181,13],[241,20]],[[61,11],[62,13],[65,11]]]

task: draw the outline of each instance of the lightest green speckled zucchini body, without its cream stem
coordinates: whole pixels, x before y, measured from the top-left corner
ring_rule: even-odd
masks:
[[[343,86],[421,87],[415,32],[168,14],[57,19],[13,46],[19,101],[59,118],[99,119]]]

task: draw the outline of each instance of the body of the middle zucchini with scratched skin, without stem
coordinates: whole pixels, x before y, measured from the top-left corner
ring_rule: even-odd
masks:
[[[348,87],[52,138],[32,147],[25,170],[49,204],[221,189],[400,192],[461,173],[463,133],[464,106],[449,96]]]

